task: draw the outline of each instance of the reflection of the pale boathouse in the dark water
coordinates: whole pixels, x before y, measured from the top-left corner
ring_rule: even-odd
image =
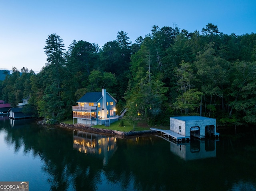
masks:
[[[195,160],[216,157],[216,141],[205,138],[200,140],[191,138],[189,142],[176,143],[166,136],[161,138],[170,142],[170,151],[184,160]]]

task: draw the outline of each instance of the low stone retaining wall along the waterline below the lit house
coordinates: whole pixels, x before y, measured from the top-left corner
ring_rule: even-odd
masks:
[[[102,134],[111,134],[111,135],[117,135],[117,136],[136,136],[136,135],[145,135],[145,134],[156,134],[157,132],[154,130],[144,130],[144,131],[130,131],[130,132],[121,132],[117,130],[110,130],[110,129],[102,129],[102,128],[94,128],[91,126],[86,126],[84,124],[65,124],[60,123],[59,124],[61,128],[69,128],[69,129],[80,129],[84,130],[86,132],[96,132],[96,133],[102,133]]]

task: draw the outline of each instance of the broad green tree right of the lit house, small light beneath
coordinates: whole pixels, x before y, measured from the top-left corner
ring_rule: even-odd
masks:
[[[163,104],[167,100],[165,94],[168,91],[164,83],[154,79],[150,73],[140,79],[136,85],[130,85],[126,93],[127,118],[130,120],[144,120],[152,123],[163,115]]]

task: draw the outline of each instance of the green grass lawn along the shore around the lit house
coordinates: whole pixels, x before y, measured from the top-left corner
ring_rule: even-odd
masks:
[[[120,122],[123,121],[122,125],[120,126]],[[73,124],[73,119],[68,119],[63,121],[63,123],[66,124]],[[76,119],[74,119],[74,123],[77,123]],[[94,128],[101,128],[101,129],[110,129],[110,130],[116,130],[116,131],[122,131],[122,132],[129,132],[129,131],[133,131],[133,125],[128,124],[127,120],[121,119],[118,120],[114,123],[111,123],[109,127],[105,127],[104,125],[94,125],[92,126]],[[150,130],[151,126],[148,126],[144,123],[140,123],[134,126],[134,130],[135,131],[143,131],[143,130]],[[168,130],[170,129],[169,126],[152,126],[155,128],[159,128],[159,129],[164,129],[164,130]]]

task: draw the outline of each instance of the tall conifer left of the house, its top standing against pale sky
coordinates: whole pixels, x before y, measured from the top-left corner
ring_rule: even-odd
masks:
[[[46,39],[44,47],[47,55],[46,67],[40,76],[39,83],[43,86],[42,99],[38,101],[38,113],[40,117],[61,120],[63,119],[64,101],[61,93],[65,75],[64,44],[59,35],[51,34]]]

